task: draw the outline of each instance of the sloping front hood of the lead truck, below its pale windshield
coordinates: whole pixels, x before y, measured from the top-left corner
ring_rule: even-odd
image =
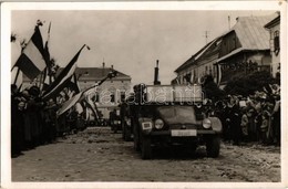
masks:
[[[193,106],[161,106],[157,112],[167,124],[196,124]]]

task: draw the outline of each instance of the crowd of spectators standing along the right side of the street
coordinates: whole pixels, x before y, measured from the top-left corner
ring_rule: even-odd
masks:
[[[256,92],[243,97],[228,95],[215,103],[215,114],[223,123],[223,139],[234,145],[257,141],[280,145],[280,93]]]

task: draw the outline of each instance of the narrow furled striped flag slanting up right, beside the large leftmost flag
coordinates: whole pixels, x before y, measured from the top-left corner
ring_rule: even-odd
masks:
[[[84,46],[85,46],[85,44],[79,50],[79,52],[70,61],[70,63],[65,66],[65,69],[59,74],[59,76],[55,78],[55,81],[43,93],[42,98],[44,101],[55,97],[64,87],[66,87],[66,84],[69,84],[71,82],[71,78],[76,69],[75,63]]]

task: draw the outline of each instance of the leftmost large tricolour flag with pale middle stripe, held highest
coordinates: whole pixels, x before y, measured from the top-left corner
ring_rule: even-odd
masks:
[[[45,69],[43,40],[39,25],[35,27],[32,38],[14,66],[18,66],[30,80],[35,78]]]

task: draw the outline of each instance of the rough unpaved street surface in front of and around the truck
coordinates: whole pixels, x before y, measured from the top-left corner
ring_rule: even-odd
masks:
[[[280,181],[280,147],[222,143],[216,159],[206,157],[204,146],[195,155],[173,148],[153,153],[153,159],[142,160],[120,133],[89,127],[12,158],[12,181]]]

